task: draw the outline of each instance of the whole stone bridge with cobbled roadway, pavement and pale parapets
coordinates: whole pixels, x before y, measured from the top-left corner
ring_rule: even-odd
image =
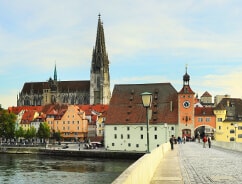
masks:
[[[168,143],[144,155],[114,184],[236,184],[242,183],[242,144],[212,142]]]

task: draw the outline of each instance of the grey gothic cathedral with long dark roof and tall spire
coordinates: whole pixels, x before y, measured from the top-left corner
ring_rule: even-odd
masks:
[[[106,53],[103,23],[99,14],[96,43],[92,54],[90,81],[58,81],[56,66],[54,77],[47,82],[26,82],[17,96],[17,106],[46,104],[109,104],[111,98],[109,60]]]

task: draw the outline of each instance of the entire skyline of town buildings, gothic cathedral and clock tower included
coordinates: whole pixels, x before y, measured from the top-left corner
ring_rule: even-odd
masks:
[[[116,84],[111,94],[99,15],[90,81],[58,81],[55,66],[54,78],[48,82],[26,82],[17,96],[18,106],[8,110],[18,116],[17,125],[24,129],[47,122],[64,140],[99,138],[107,150],[146,151],[147,117],[140,94],[150,92],[150,150],[172,135],[242,142],[242,100],[221,95],[213,103],[208,92],[199,99],[189,82],[186,67],[180,91],[171,83]]]

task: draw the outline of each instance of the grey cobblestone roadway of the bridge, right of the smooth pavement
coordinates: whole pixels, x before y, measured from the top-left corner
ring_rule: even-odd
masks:
[[[203,148],[196,142],[178,144],[175,149],[185,184],[242,184],[242,152],[213,145]]]

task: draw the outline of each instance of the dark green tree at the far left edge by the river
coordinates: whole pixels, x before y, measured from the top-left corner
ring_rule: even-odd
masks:
[[[0,112],[0,137],[7,139],[14,138],[16,115],[9,113],[7,110]]]

